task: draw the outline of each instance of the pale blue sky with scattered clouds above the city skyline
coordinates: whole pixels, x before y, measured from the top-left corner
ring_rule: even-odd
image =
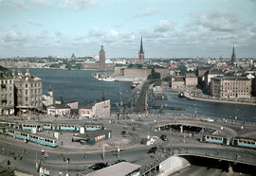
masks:
[[[0,58],[256,58],[256,0],[0,0]]]

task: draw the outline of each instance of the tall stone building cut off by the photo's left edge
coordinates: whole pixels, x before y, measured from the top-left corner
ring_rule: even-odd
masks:
[[[14,84],[9,69],[0,66],[0,115],[14,114]]]

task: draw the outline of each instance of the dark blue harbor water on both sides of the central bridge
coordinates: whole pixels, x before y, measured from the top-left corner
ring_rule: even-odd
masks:
[[[21,69],[23,72],[26,69]],[[16,69],[17,71],[17,69]],[[97,101],[110,99],[112,104],[119,103],[119,91],[122,92],[121,100],[124,104],[131,97],[132,82],[121,81],[101,81],[94,79],[92,74],[96,70],[60,70],[60,69],[29,69],[29,72],[43,79],[43,93],[46,94],[49,85],[53,91],[54,100],[64,98],[64,102],[78,101],[79,106],[84,105],[84,101]],[[108,71],[113,73],[113,71]],[[155,106],[169,106],[184,108],[178,110],[152,109],[151,114],[188,114],[215,118],[229,118],[239,121],[256,123],[256,106],[213,103],[206,101],[188,100],[178,97],[177,93],[167,92],[168,99],[156,100]],[[112,109],[112,110],[115,110]],[[237,116],[237,117],[236,117]]]

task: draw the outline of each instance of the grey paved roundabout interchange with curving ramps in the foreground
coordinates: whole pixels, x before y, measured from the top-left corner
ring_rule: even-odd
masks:
[[[9,159],[10,168],[30,174],[37,173],[38,167],[46,167],[52,174],[58,174],[60,170],[71,175],[86,174],[93,171],[89,167],[96,163],[103,162],[112,165],[118,160],[140,165],[141,172],[147,173],[151,170],[150,167],[158,169],[161,162],[164,162],[163,158],[167,160],[173,155],[184,154],[195,154],[204,157],[213,157],[214,155],[216,158],[232,161],[236,159],[236,154],[239,153],[238,161],[247,157],[249,162],[256,164],[255,150],[246,150],[247,152],[245,152],[244,149],[233,149],[229,146],[198,141],[198,138],[204,132],[219,132],[222,135],[237,136],[237,133],[241,134],[237,131],[240,124],[232,125],[222,121],[208,123],[200,121],[199,118],[185,118],[182,116],[148,116],[142,118],[133,116],[132,119],[125,120],[111,119],[115,123],[109,123],[109,120],[102,119],[101,123],[104,124],[107,130],[111,131],[111,138],[102,140],[95,145],[82,145],[79,142],[72,142],[72,136],[76,132],[60,133],[59,142],[63,141],[63,145],[59,145],[57,148],[41,146],[31,142],[24,143],[23,140],[0,135],[0,146],[6,150],[5,153],[1,153],[1,157]],[[248,131],[244,134],[253,134],[254,126],[244,126]],[[196,131],[192,131],[193,129]],[[52,136],[54,131],[40,133]],[[163,133],[167,136],[166,141],[160,138]],[[152,143],[149,143],[151,145],[147,146],[141,143],[142,139],[151,138],[155,139]],[[157,148],[154,155],[148,153],[153,147]],[[14,156],[23,153],[23,150],[27,150],[27,154],[22,154],[22,160],[15,160]],[[46,151],[47,158],[41,155],[41,150]],[[208,155],[209,150],[210,154]],[[14,153],[11,154],[10,151],[14,151]],[[218,155],[216,155],[217,152]],[[154,163],[155,166],[151,166],[150,163]],[[6,165],[6,161],[1,166],[4,165]],[[36,167],[36,165],[38,166]]]

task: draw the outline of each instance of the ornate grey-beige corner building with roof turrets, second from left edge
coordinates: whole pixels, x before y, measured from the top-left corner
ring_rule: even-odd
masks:
[[[14,78],[15,106],[19,113],[41,112],[43,109],[43,83],[42,79],[18,72]]]

